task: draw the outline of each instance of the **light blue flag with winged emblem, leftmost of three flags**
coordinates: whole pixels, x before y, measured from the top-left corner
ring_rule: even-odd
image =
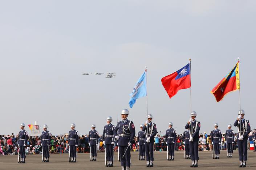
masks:
[[[146,82],[146,71],[139,77],[139,80],[133,88],[133,93],[130,94],[131,98],[129,105],[132,108],[136,99],[142,98],[147,95],[147,82]]]

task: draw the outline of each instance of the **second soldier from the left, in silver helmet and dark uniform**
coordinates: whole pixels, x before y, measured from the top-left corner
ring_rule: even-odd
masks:
[[[50,141],[52,140],[52,135],[49,131],[47,131],[48,126],[45,124],[43,126],[44,131],[41,135],[41,146],[42,146],[42,161],[49,162],[49,146]],[[45,157],[45,160],[44,160]]]

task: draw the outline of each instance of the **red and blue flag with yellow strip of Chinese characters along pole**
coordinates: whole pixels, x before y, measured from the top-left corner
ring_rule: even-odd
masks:
[[[212,89],[211,93],[215,96],[216,101],[219,102],[227,93],[238,89],[240,89],[239,61],[228,75]]]

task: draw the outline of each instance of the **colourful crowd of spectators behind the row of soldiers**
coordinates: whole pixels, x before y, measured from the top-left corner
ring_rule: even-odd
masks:
[[[204,134],[200,134],[199,139],[199,145],[198,150],[199,151],[208,151],[212,150],[212,139],[210,134],[207,134],[204,132]],[[233,144],[233,149],[237,149],[237,134],[235,134],[235,142]],[[252,136],[252,135],[251,135]],[[41,136],[29,136],[27,146],[25,146],[25,152],[26,154],[41,154],[42,153],[42,147],[41,147]],[[249,135],[249,140],[250,140]],[[105,148],[102,142],[102,137],[99,136],[98,141],[98,152],[105,152]],[[249,147],[248,147],[249,148]],[[0,135],[0,155],[17,155],[18,154],[18,139],[17,136],[13,135]],[[224,134],[222,135],[222,142],[220,144],[220,149],[225,150],[226,144],[225,144],[225,138]],[[165,136],[161,136],[157,134],[155,136],[155,145],[154,145],[155,151],[166,151],[167,150],[167,144],[166,144],[166,138]],[[175,150],[176,151],[183,151],[184,150],[184,141],[182,134],[178,134],[175,140]],[[89,140],[88,135],[82,135],[79,136],[78,139],[78,147],[77,152],[78,153],[88,153],[90,151],[89,149]],[[118,152],[117,142],[114,144],[114,151]],[[132,152],[138,151],[138,141],[137,137],[134,138],[134,144],[131,147]],[[52,154],[59,154],[59,153],[69,153],[69,146],[68,146],[68,135],[57,135],[52,136],[51,145],[49,146],[49,152]]]

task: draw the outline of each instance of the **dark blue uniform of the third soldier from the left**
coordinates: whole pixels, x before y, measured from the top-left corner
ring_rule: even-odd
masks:
[[[72,160],[76,160],[76,157],[77,157],[76,145],[78,144],[78,132],[75,129],[69,131],[68,144],[69,144],[70,157],[72,158]]]

